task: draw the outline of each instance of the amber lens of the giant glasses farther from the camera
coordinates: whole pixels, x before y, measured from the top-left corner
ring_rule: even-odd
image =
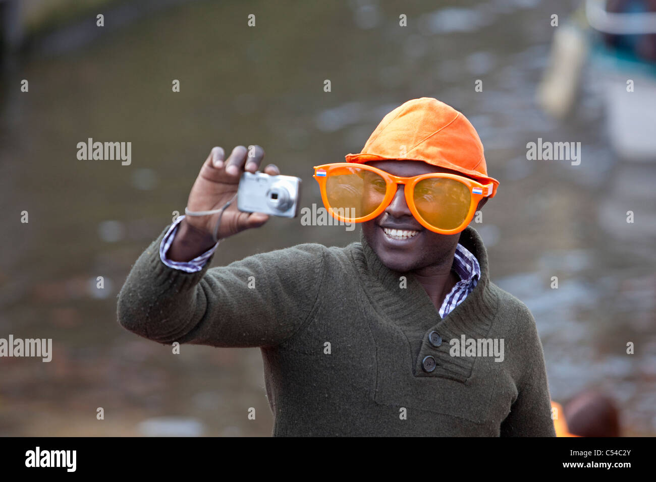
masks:
[[[469,214],[472,194],[468,186],[455,179],[427,178],[415,184],[413,201],[428,224],[441,230],[455,230]]]

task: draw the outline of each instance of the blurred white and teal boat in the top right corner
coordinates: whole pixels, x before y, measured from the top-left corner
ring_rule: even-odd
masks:
[[[621,159],[656,160],[656,2],[586,0],[558,27],[549,67],[537,92],[541,108],[564,118],[579,92],[586,60],[595,69],[607,119],[607,134]],[[653,45],[652,45],[653,44]],[[639,54],[647,45],[653,58]]]

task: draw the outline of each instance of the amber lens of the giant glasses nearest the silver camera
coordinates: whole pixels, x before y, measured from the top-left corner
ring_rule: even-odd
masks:
[[[344,218],[369,216],[384,201],[386,190],[382,176],[358,167],[332,169],[326,178],[328,203]]]

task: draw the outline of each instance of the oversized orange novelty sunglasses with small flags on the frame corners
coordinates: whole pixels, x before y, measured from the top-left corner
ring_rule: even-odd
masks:
[[[397,185],[405,185],[405,202],[424,228],[440,234],[459,233],[474,218],[478,202],[493,184],[457,174],[432,172],[399,177],[366,164],[334,163],[314,167],[323,205],[342,222],[365,222],[392,202]]]

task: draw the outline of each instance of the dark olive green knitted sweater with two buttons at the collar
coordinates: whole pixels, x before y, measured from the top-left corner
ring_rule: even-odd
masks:
[[[125,281],[119,322],[164,344],[260,347],[273,435],[555,435],[535,321],[491,283],[473,228],[460,243],[481,277],[444,319],[422,285],[386,268],[362,236],[186,273],[161,262],[165,232]],[[452,356],[450,341],[462,335],[502,339],[502,361]]]

